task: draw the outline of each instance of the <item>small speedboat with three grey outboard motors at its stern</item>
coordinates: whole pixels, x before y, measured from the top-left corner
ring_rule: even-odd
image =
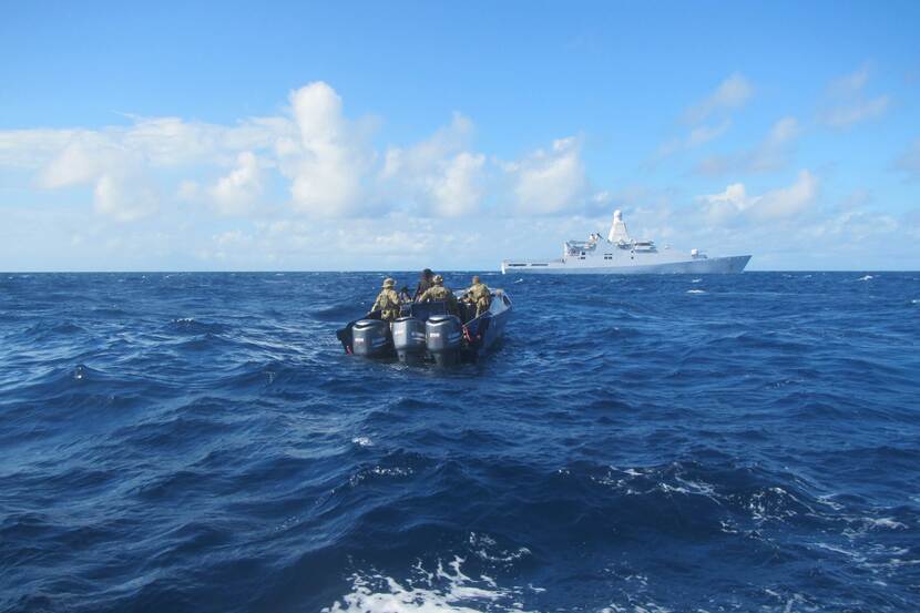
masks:
[[[476,361],[501,338],[511,317],[511,298],[502,289],[492,290],[489,309],[477,317],[476,305],[454,295],[459,316],[448,311],[446,300],[408,303],[392,324],[380,319],[380,311],[372,311],[336,336],[346,354],[366,358],[437,366]]]

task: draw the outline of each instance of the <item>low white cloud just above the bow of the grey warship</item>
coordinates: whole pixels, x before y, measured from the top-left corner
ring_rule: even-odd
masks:
[[[697,196],[697,201],[712,223],[729,224],[794,217],[814,204],[817,195],[818,178],[804,170],[791,185],[761,195],[750,195],[744,183],[733,183],[720,193]]]

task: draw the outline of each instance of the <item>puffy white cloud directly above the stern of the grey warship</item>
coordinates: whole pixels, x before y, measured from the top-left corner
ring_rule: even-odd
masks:
[[[524,160],[508,164],[513,193],[521,213],[553,214],[589,198],[587,176],[574,137],[553,142],[550,151],[536,150]]]

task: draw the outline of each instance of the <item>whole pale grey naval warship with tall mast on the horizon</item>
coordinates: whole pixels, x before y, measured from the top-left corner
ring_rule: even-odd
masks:
[[[592,233],[587,241],[566,241],[559,259],[505,259],[503,274],[539,273],[544,275],[595,274],[694,274],[740,273],[749,255],[707,257],[699,249],[689,253],[669,247],[658,248],[654,241],[634,241],[626,232],[620,211],[613,213],[607,237]]]

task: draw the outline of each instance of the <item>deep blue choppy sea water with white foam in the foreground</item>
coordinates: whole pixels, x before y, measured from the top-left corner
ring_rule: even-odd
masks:
[[[920,610],[920,274],[492,275],[452,371],[381,277],[0,276],[0,611]]]

